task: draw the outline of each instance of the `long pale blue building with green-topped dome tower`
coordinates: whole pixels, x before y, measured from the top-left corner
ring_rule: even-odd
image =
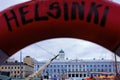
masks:
[[[61,53],[62,52],[62,53]],[[114,60],[68,60],[64,59],[64,51],[59,52],[59,58],[54,60],[45,70],[42,75],[58,78],[75,78],[76,80],[85,79],[88,76],[115,75]],[[64,55],[64,56],[63,56]],[[34,71],[37,71],[46,61],[34,63]],[[118,64],[118,72],[120,72],[120,62]]]

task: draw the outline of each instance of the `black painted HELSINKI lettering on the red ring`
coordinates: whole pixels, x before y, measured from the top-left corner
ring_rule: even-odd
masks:
[[[103,5],[92,2],[90,4],[89,11],[88,11],[87,17],[85,19],[85,2],[84,1],[82,1],[81,3],[73,2],[72,6],[71,6],[71,13],[69,13],[70,7],[68,5],[69,5],[68,3],[63,4],[64,16],[62,16],[62,17],[63,17],[64,21],[68,21],[70,19],[76,20],[77,15],[78,15],[79,20],[86,20],[86,22],[90,23],[93,19],[94,24],[99,24],[101,27],[105,26],[108,11],[109,11],[108,6],[104,7],[104,10],[102,11],[103,12],[102,17],[99,18],[99,15],[100,15],[99,8],[103,7]],[[22,25],[32,23],[33,21],[48,21],[49,17],[52,17],[54,19],[59,19],[62,14],[62,9],[61,9],[59,2],[53,2],[49,5],[48,11],[45,13],[45,15],[41,16],[40,15],[41,11],[39,9],[41,6],[38,3],[36,3],[34,6],[34,10],[33,10],[34,11],[33,18],[28,19],[26,17],[26,15],[30,14],[30,11],[25,10],[25,8],[28,8],[29,6],[30,5],[25,5],[25,6],[18,8]],[[52,13],[53,10],[55,11],[54,13]],[[8,16],[7,13],[4,13],[3,16],[5,18],[8,30],[12,31],[12,25],[11,25],[12,20],[14,21],[16,27],[19,27],[20,24],[18,22],[18,17],[16,15],[15,11],[13,9],[11,9],[9,12],[10,12],[11,16]],[[69,16],[69,14],[70,14],[70,16]]]

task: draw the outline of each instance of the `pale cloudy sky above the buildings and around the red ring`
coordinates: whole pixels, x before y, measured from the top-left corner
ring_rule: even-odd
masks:
[[[0,0],[0,11],[9,6],[22,3],[29,0]],[[120,0],[113,0],[120,3]],[[56,38],[34,43],[18,51],[11,58],[19,61],[20,53],[22,57],[31,56],[36,60],[47,60],[64,50],[65,57],[68,59],[114,59],[114,54],[102,46],[80,39]],[[119,57],[117,57],[120,60]]]

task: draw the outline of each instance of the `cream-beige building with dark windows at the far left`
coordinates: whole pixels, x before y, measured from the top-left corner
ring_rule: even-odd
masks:
[[[25,57],[26,58],[26,57]],[[25,78],[34,72],[34,67],[29,63],[7,60],[0,66],[1,73],[9,73],[11,78]],[[7,75],[8,76],[8,75]]]

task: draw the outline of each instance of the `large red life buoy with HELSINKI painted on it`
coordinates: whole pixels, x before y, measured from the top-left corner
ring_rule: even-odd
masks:
[[[109,0],[35,0],[9,7],[0,12],[0,56],[60,37],[85,39],[115,52],[120,46],[119,9]]]

